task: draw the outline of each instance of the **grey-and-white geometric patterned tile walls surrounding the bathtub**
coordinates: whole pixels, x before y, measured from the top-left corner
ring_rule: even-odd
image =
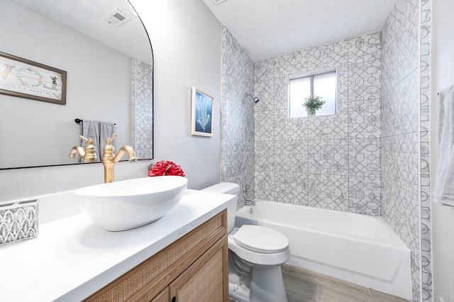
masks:
[[[222,179],[253,182],[255,135],[255,198],[381,213],[411,248],[414,301],[420,293],[433,301],[430,20],[430,0],[399,0],[382,37],[372,33],[257,62],[254,81],[253,63],[223,28]],[[338,115],[287,119],[287,76],[326,67],[338,68]],[[255,106],[242,99],[251,83],[260,98]]]

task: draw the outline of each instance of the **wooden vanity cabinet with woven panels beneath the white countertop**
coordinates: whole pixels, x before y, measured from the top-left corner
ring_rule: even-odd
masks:
[[[85,301],[228,301],[226,210]]]

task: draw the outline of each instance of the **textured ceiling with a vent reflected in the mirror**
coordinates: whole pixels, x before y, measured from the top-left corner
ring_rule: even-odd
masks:
[[[126,0],[13,0],[130,57],[153,64],[150,40]],[[131,21],[116,27],[103,17],[119,9]]]

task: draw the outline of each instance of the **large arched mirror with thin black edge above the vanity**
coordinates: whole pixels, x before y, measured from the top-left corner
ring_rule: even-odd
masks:
[[[116,146],[153,158],[153,50],[128,1],[2,0],[0,28],[0,52],[67,72],[65,105],[0,94],[0,169],[77,164],[76,119],[115,123]],[[8,64],[0,81],[18,77]],[[26,93],[52,81],[29,71]]]

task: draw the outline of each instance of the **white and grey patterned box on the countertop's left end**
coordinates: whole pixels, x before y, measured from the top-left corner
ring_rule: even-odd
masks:
[[[38,200],[0,204],[0,245],[38,236]]]

